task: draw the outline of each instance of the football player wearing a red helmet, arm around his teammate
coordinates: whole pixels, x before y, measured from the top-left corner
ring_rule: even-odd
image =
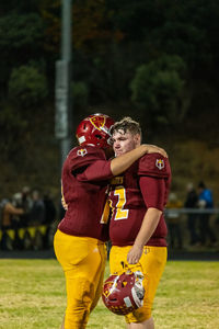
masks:
[[[142,145],[107,160],[114,121],[104,114],[84,118],[77,128],[78,147],[70,150],[61,173],[66,214],[54,238],[55,253],[66,276],[67,308],[61,328],[85,328],[102,292],[107,225],[102,220],[107,181],[148,151]]]

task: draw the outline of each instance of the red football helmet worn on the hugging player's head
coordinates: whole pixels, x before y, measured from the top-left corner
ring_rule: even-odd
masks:
[[[110,128],[113,124],[113,118],[105,114],[92,114],[81,121],[76,137],[81,146],[90,144],[106,149],[112,145]]]

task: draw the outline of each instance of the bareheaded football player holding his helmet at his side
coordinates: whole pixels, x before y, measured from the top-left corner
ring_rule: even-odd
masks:
[[[125,117],[112,128],[117,159],[140,146],[140,125]],[[153,329],[151,308],[166,262],[166,225],[163,209],[171,182],[169,159],[147,154],[125,173],[111,180],[111,273],[126,269],[143,273],[143,306],[126,315],[127,328]]]

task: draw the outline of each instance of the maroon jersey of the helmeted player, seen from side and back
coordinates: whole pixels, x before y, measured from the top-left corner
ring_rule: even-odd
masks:
[[[107,227],[101,224],[106,186],[113,177],[111,161],[93,146],[73,148],[62,167],[61,186],[65,218],[58,228],[68,235],[107,239]]]

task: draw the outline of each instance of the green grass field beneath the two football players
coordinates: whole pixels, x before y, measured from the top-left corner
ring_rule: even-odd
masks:
[[[58,329],[65,304],[56,260],[0,260],[0,328]],[[218,315],[219,262],[169,261],[154,300],[155,329],[217,329]],[[125,324],[100,300],[91,328],[120,329]]]

